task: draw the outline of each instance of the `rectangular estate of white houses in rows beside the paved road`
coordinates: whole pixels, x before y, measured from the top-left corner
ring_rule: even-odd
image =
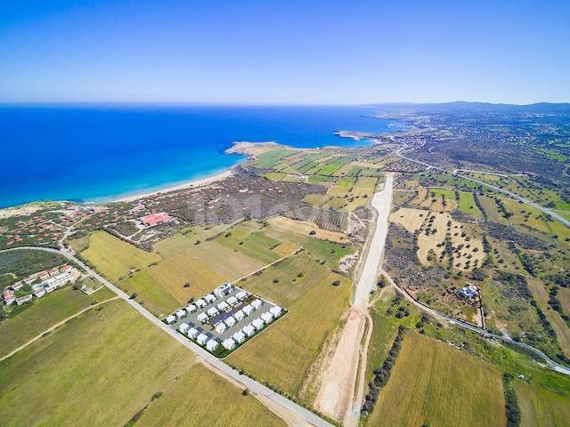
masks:
[[[224,358],[287,311],[229,283],[176,310],[165,322],[218,358]]]

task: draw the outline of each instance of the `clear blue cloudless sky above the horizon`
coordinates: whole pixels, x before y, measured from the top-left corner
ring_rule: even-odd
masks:
[[[570,101],[570,1],[1,0],[0,101]]]

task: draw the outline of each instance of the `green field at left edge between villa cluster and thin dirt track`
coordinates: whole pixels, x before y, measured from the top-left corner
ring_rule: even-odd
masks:
[[[96,302],[112,298],[106,287],[91,295],[66,286],[34,300],[26,312],[0,323],[0,356],[5,356],[20,345],[41,334],[45,329],[69,318]]]

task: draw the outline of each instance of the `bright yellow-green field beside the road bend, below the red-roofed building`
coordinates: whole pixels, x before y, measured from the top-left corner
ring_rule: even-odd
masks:
[[[114,282],[126,277],[130,270],[142,270],[161,260],[158,254],[144,252],[104,231],[91,235],[89,247],[81,255]]]

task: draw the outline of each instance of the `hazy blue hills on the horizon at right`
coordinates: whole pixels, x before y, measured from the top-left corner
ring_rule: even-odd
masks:
[[[502,114],[563,114],[570,115],[570,103],[538,102],[535,104],[493,104],[490,102],[454,101],[442,103],[379,103],[370,104],[381,112],[414,112],[439,114],[502,113]]]

